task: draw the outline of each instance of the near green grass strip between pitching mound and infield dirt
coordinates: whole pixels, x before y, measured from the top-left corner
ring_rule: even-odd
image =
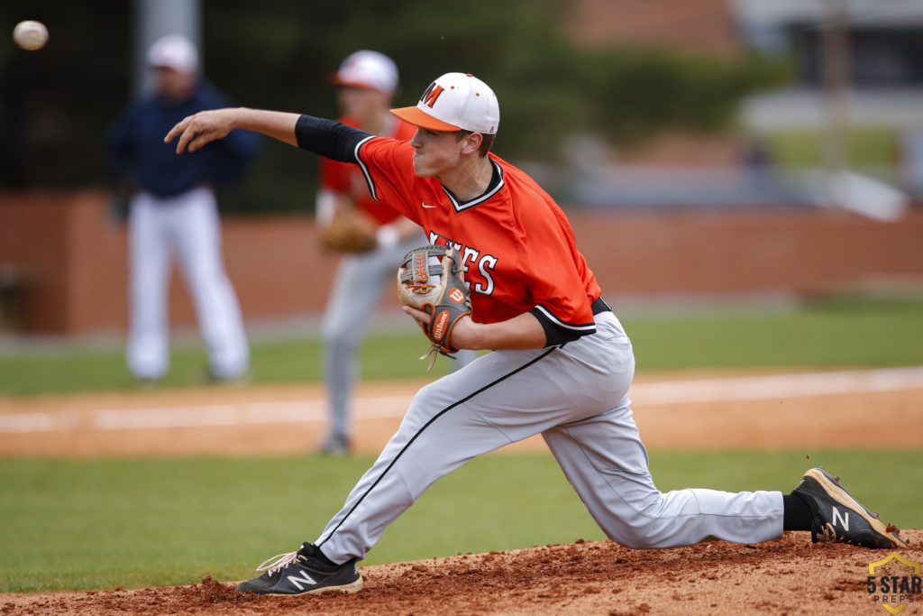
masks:
[[[0,460],[0,591],[251,577],[314,540],[371,458]],[[653,453],[660,489],[794,489],[843,476],[882,519],[919,527],[923,452]],[[602,539],[548,454],[487,455],[439,481],[365,564]]]

